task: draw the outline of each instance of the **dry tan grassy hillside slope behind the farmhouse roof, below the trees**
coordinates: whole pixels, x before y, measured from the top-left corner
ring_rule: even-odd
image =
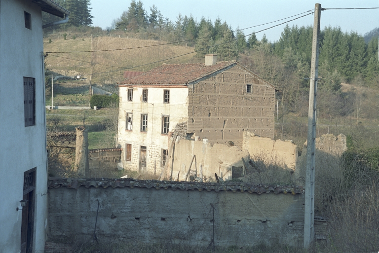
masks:
[[[92,51],[143,47],[157,45],[160,43],[162,42],[156,40],[97,36],[92,38]],[[58,36],[51,38],[51,43],[49,43],[49,38],[45,37],[43,40],[43,46],[45,52],[90,51],[91,37],[84,37],[84,40],[81,38],[67,38],[65,40],[63,37]],[[129,50],[93,52],[92,72],[94,75],[92,82],[99,85],[113,84],[123,79],[123,68],[130,68],[129,70],[132,70],[135,66],[164,60],[190,52],[193,52],[193,47],[180,45],[163,45]],[[90,52],[49,53],[46,58],[46,69],[62,75],[81,75],[88,80],[91,72],[90,61]],[[165,61],[165,63],[189,63],[198,61],[200,60],[194,58],[194,54],[189,54]],[[162,63],[163,62],[146,65],[136,68],[135,70],[148,71],[161,65]]]

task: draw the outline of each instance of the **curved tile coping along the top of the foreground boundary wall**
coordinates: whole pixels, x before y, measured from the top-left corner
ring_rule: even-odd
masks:
[[[273,192],[278,194],[291,193],[303,194],[303,186],[293,186],[293,185],[265,185],[265,184],[251,184],[243,182],[223,182],[223,183],[203,183],[203,182],[188,182],[188,181],[157,181],[157,180],[136,180],[136,179],[67,179],[67,178],[49,178],[48,187],[58,188],[67,187],[78,189],[80,186],[86,188],[89,187],[120,187],[120,188],[155,188],[155,189],[168,189],[172,190],[206,190],[206,191],[232,191],[232,192],[244,192],[249,193],[269,193]]]

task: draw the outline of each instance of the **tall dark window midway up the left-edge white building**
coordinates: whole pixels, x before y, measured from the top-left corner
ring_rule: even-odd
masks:
[[[24,77],[25,126],[36,125],[36,78]]]

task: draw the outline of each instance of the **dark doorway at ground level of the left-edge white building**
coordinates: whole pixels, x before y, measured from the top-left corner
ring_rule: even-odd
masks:
[[[27,200],[22,208],[21,219],[21,253],[33,251],[34,200],[36,189],[36,168],[24,173],[23,200]]]

